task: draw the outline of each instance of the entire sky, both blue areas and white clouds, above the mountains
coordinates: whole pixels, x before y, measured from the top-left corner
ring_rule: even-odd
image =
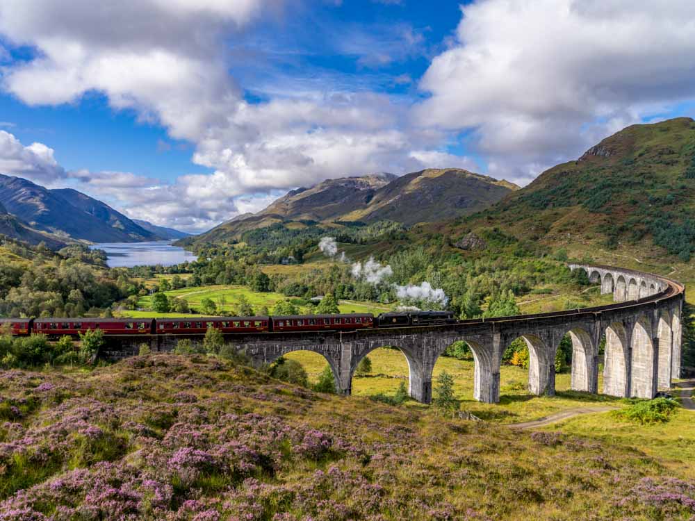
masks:
[[[6,0],[0,171],[188,231],[346,175],[523,185],[692,115],[694,71],[682,0]]]

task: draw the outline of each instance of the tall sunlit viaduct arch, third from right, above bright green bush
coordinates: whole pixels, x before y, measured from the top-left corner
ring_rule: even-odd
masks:
[[[652,324],[646,315],[641,315],[632,328],[630,348],[630,396],[653,398],[657,390],[657,350]]]

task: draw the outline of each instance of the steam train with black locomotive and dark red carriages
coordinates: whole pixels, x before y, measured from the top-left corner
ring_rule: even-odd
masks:
[[[184,335],[205,333],[271,333],[274,331],[356,331],[388,327],[430,326],[456,322],[451,311],[409,311],[283,317],[186,318],[3,318],[0,327],[15,336],[42,333],[49,337],[77,336],[92,329],[107,335]]]

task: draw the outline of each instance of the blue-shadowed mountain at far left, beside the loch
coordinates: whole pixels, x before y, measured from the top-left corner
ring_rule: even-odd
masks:
[[[157,240],[110,206],[71,189],[48,190],[26,179],[0,175],[0,204],[33,229],[62,242]]]

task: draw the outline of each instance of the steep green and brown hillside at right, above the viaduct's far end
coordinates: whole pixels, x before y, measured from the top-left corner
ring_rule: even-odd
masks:
[[[688,261],[695,253],[695,121],[628,126],[490,208],[421,231],[455,243],[482,228],[576,252],[619,248]]]

